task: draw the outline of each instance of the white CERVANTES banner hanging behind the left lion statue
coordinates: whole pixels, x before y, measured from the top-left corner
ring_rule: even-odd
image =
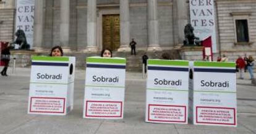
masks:
[[[30,49],[33,48],[35,0],[17,0],[15,32],[23,30]]]

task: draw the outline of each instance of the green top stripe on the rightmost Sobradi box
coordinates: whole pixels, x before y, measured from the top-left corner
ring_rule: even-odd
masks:
[[[207,62],[207,61],[195,61],[194,66],[202,67],[223,67],[223,68],[235,68],[234,62]]]

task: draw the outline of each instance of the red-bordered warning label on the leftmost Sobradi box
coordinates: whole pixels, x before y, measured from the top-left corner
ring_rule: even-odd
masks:
[[[65,98],[31,97],[30,112],[64,113]]]

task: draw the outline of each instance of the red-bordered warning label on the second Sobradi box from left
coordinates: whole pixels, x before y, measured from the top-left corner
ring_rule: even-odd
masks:
[[[122,101],[86,101],[87,117],[122,117]]]

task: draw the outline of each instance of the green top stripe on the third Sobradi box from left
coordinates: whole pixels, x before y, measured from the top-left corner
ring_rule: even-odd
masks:
[[[166,66],[189,66],[189,61],[176,60],[148,60],[148,65],[166,65]]]

